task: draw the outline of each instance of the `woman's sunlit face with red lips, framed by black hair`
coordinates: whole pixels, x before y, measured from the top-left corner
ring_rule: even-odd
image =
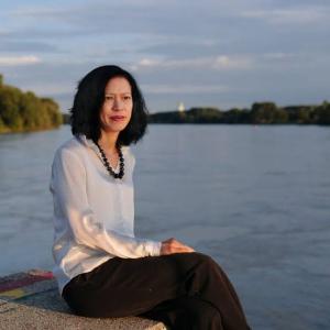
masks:
[[[120,132],[130,122],[133,109],[132,88],[123,77],[110,79],[105,89],[105,102],[100,111],[101,129]]]

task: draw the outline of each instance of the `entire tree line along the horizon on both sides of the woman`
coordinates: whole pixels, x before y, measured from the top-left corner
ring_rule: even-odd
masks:
[[[148,114],[150,123],[226,123],[226,124],[320,124],[330,125],[330,103],[277,107],[274,102],[255,102],[251,109],[191,108]],[[38,98],[4,85],[0,75],[0,133],[37,131],[69,123],[69,114],[61,113],[50,98]]]

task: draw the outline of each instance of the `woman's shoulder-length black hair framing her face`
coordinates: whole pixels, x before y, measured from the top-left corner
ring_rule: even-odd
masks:
[[[116,65],[97,67],[79,81],[74,106],[70,109],[70,125],[74,135],[85,134],[92,141],[99,140],[101,136],[100,111],[105,101],[105,90],[108,81],[114,77],[123,77],[130,82],[133,100],[131,120],[119,133],[117,143],[130,145],[142,139],[147,124],[147,109],[143,95],[133,76]]]

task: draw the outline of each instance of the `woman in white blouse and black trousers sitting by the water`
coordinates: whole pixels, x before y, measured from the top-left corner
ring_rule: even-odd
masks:
[[[87,317],[141,316],[170,329],[249,329],[234,288],[209,256],[175,239],[134,235],[129,145],[146,128],[134,78],[90,72],[72,109],[74,138],[55,153],[54,275],[70,309]]]

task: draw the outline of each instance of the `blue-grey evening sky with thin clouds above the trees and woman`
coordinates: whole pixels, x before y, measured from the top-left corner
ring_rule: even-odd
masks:
[[[150,112],[330,100],[330,1],[0,0],[4,82],[63,112],[91,69],[136,78]]]

